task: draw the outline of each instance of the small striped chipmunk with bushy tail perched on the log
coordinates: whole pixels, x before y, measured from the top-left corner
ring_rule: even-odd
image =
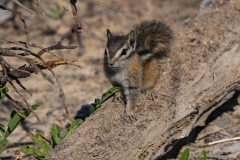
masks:
[[[114,99],[125,98],[125,118],[136,117],[133,108],[141,92],[157,98],[153,88],[160,76],[158,59],[170,50],[172,30],[162,22],[143,21],[127,35],[113,35],[107,29],[104,71],[113,86],[122,87]]]

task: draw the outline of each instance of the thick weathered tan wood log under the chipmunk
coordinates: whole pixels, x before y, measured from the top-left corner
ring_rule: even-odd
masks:
[[[158,99],[141,96],[137,121],[121,118],[111,99],[46,159],[159,159],[240,88],[239,0],[218,1],[186,24],[173,26],[175,41],[161,60]]]

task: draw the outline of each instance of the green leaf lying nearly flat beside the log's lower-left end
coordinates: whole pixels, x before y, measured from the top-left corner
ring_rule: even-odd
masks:
[[[33,155],[37,159],[43,159],[47,155],[47,153],[39,151],[38,149],[31,146],[20,147],[20,151],[24,154]]]

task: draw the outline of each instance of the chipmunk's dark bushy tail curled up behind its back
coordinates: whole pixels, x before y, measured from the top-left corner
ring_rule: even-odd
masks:
[[[169,52],[173,32],[165,23],[155,20],[143,21],[134,27],[134,31],[131,40],[140,56],[146,54],[165,56]]]

